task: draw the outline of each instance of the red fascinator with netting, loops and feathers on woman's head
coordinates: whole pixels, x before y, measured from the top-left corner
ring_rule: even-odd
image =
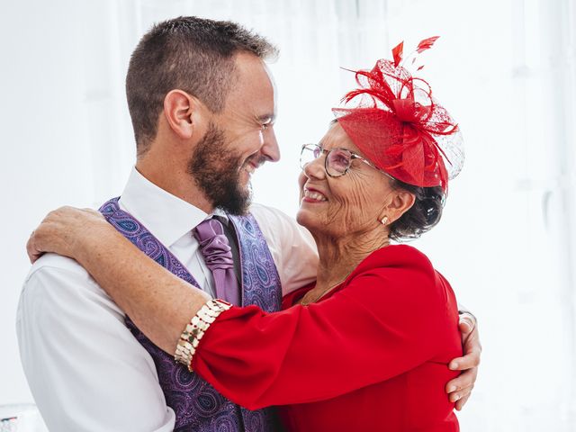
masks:
[[[437,37],[422,40],[406,60],[413,66],[419,53]],[[447,190],[464,165],[458,125],[432,97],[426,81],[411,76],[402,64],[403,42],[392,49],[393,61],[380,59],[370,71],[356,71],[360,86],[347,93],[332,111],[348,137],[377,167],[417,186]],[[420,70],[422,66],[418,67]]]

